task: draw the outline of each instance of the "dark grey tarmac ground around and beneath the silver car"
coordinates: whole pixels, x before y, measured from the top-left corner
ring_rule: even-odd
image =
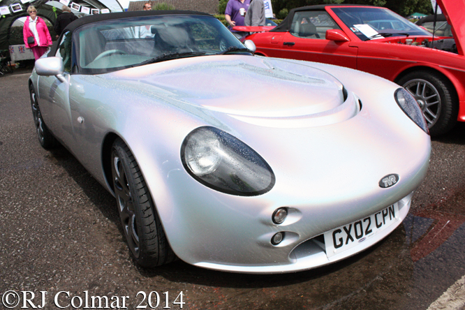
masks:
[[[144,294],[156,292],[157,309],[180,309],[173,302],[182,292],[182,309],[464,309],[465,124],[433,141],[408,217],[364,253],[283,275],[214,272],[180,260],[146,270],[129,256],[112,195],[66,149],[47,152],[38,144],[28,76],[0,77],[3,304],[17,293],[13,309],[20,309],[23,294],[31,299],[22,292],[30,291],[31,304],[43,309],[92,309],[96,296],[110,300],[101,309],[123,300],[126,309],[150,309]]]

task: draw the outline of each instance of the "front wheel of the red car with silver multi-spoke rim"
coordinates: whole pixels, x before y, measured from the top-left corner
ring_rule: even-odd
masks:
[[[414,71],[397,84],[417,100],[431,136],[443,135],[455,126],[459,104],[452,83],[445,77],[432,71]]]

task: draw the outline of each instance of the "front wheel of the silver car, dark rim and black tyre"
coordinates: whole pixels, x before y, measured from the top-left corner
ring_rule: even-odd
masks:
[[[112,146],[112,178],[124,237],[131,255],[142,267],[175,260],[152,196],[131,150],[118,138]]]

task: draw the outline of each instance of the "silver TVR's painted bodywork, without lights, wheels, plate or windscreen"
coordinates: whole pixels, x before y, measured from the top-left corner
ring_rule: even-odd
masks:
[[[218,55],[64,77],[68,82],[31,75],[52,133],[110,192],[102,144],[108,134],[122,138],[140,164],[170,246],[200,267],[279,273],[352,256],[401,223],[427,173],[429,135],[394,101],[399,86],[367,73]],[[200,126],[220,128],[265,158],[276,176],[272,190],[242,197],[193,179],[180,148]],[[390,174],[399,182],[381,188]],[[395,225],[344,253],[327,258],[308,242],[394,203]],[[276,225],[279,207],[293,216]],[[279,231],[286,242],[273,246]]]

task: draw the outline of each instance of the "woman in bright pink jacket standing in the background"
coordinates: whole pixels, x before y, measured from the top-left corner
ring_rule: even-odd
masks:
[[[29,6],[27,13],[29,13],[29,16],[26,22],[24,22],[24,28],[22,29],[24,44],[32,50],[37,60],[52,45],[52,37],[50,36],[50,32],[48,32],[47,24],[45,24],[42,18],[37,16],[37,10],[34,6]],[[34,42],[32,42],[32,38],[34,38]]]

